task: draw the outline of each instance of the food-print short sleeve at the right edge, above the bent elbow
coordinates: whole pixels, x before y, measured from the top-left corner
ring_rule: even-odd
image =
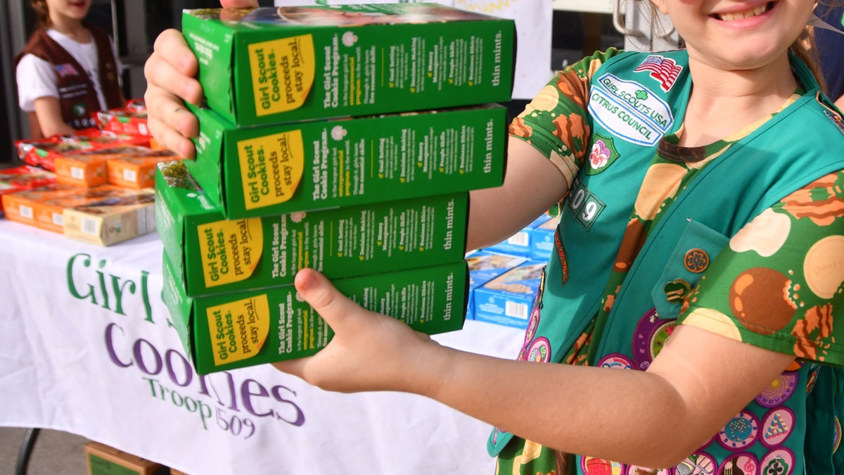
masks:
[[[844,366],[842,189],[844,172],[831,173],[744,225],[712,260],[679,322]]]

